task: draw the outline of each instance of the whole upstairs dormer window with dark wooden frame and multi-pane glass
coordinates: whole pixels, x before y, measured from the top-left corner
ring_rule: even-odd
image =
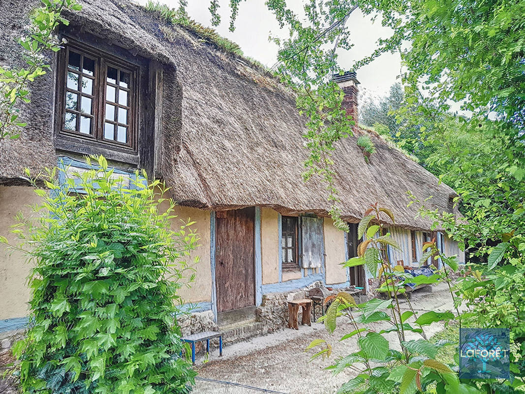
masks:
[[[139,67],[83,45],[64,52],[60,133],[136,150]]]

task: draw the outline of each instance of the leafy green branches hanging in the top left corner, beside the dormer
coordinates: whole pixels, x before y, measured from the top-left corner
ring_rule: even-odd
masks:
[[[46,74],[46,51],[60,50],[55,28],[67,19],[60,16],[64,8],[80,11],[82,6],[75,0],[41,0],[43,7],[30,15],[30,32],[18,43],[25,49],[23,54],[26,67],[0,67],[0,141],[16,139],[26,123],[18,119],[20,103],[30,101],[29,84]]]

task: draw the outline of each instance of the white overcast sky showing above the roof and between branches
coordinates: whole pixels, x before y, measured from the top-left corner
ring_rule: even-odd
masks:
[[[139,0],[144,4],[145,0]],[[178,7],[178,0],[160,0],[171,8]],[[229,0],[220,0],[220,14],[222,23],[216,28],[217,32],[239,44],[246,56],[253,57],[261,63],[271,67],[276,62],[277,45],[268,42],[268,35],[284,36],[286,32],[279,26],[267,7],[265,0],[247,0],[239,5],[239,15],[234,33],[229,28]],[[288,0],[290,6],[300,9],[302,0]],[[209,0],[188,0],[187,11],[197,22],[211,26],[208,11]],[[372,23],[371,18],[364,16],[359,10],[352,13],[348,20],[351,39],[355,44],[349,51],[341,51],[339,63],[342,68],[350,68],[355,60],[370,55],[376,47],[380,37],[388,37],[390,28],[381,26],[377,20]],[[400,74],[400,57],[398,54],[384,54],[370,65],[358,70],[360,88],[366,90],[367,95],[384,95]]]

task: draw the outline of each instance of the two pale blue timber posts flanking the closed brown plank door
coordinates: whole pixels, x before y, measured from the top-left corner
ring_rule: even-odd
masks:
[[[217,323],[217,285],[215,283],[215,247],[216,247],[216,211],[211,211],[209,216],[210,225],[210,250],[209,260],[212,272],[212,313],[215,323]],[[254,284],[255,284],[255,307],[262,304],[262,263],[261,263],[261,210],[259,206],[255,207],[255,226],[254,226]]]

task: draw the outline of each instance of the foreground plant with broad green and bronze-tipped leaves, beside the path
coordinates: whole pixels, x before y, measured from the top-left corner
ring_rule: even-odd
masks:
[[[448,322],[454,319],[455,315],[434,310],[418,314],[408,298],[406,309],[402,308],[400,303],[406,284],[434,284],[443,279],[449,282],[447,271],[429,277],[414,277],[406,274],[402,266],[392,266],[386,254],[381,252],[382,247],[387,245],[399,248],[390,234],[385,234],[384,223],[387,221],[394,224],[392,212],[378,207],[377,204],[372,205],[358,226],[358,237],[366,234],[365,241],[358,246],[358,257],[344,264],[365,264],[372,275],[382,282],[378,291],[387,294],[388,298],[373,298],[359,305],[350,294],[344,292],[327,298],[327,301],[332,300],[332,303],[323,317],[325,328],[333,333],[336,319],[345,316],[354,329],[340,340],[357,336],[360,348],[359,351],[336,359],[334,364],[327,368],[334,374],[348,368],[356,375],[344,383],[338,392],[414,394],[417,391],[427,392],[432,389],[438,394],[481,393],[475,382],[460,382],[452,366],[435,359],[441,348],[453,343],[448,340],[428,340],[423,330],[424,326],[434,322]],[[425,243],[423,252],[421,264],[429,258],[440,256],[434,242]],[[446,259],[444,262],[450,268],[457,268],[454,258],[440,257]],[[387,312],[384,312],[385,309]],[[377,330],[370,326],[376,322],[389,324],[390,327]],[[415,333],[421,338],[409,339],[408,333]],[[392,340],[391,336],[396,340]],[[331,345],[324,340],[317,340],[312,342],[309,348],[316,346],[321,346],[322,350],[312,358],[330,356]]]

